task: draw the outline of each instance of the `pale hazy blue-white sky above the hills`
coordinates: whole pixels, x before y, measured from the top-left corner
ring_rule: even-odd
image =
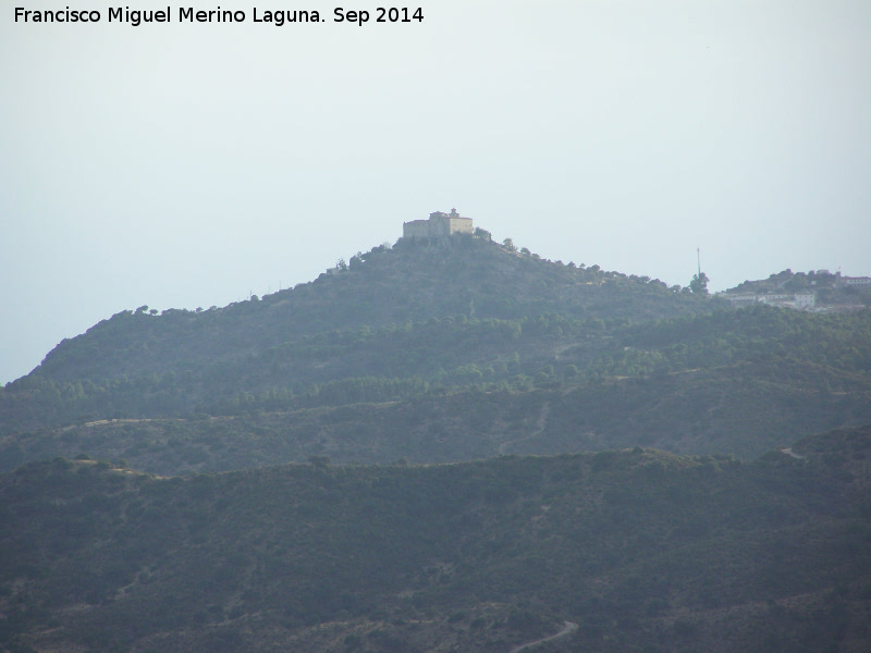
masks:
[[[259,1],[138,27],[3,3],[0,383],[121,310],[311,281],[452,208],[670,285],[697,248],[713,291],[871,274],[868,0],[355,1],[361,26]],[[253,22],[294,5],[324,21]]]

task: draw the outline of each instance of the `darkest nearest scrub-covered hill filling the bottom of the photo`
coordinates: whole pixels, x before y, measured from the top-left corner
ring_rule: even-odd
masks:
[[[9,651],[867,650],[871,430],[415,467],[0,476]]]

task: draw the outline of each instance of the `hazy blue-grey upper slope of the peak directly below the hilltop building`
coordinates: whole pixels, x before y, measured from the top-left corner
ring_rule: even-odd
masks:
[[[123,311],[59,344],[33,374],[99,383],[184,373],[237,365],[306,335],[449,316],[514,319],[553,312],[642,320],[708,310],[697,297],[648,281],[554,263],[471,237],[439,245],[400,241],[355,257],[347,269],[262,299],[201,312]]]

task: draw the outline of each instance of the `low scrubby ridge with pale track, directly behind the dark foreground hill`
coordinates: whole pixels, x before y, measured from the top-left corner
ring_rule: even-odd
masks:
[[[793,368],[784,382],[760,365],[609,380],[578,386],[450,394],[253,409],[196,418],[97,420],[0,435],[0,471],[87,454],[162,476],[304,463],[453,463],[500,454],[650,446],[750,459],[797,435],[871,423],[863,383],[833,392]],[[772,373],[774,372],[774,373]]]

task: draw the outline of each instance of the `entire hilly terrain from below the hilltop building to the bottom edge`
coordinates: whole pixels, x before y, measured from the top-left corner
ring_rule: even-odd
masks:
[[[871,311],[486,232],[140,307],[0,389],[0,649],[864,651],[869,423]]]

